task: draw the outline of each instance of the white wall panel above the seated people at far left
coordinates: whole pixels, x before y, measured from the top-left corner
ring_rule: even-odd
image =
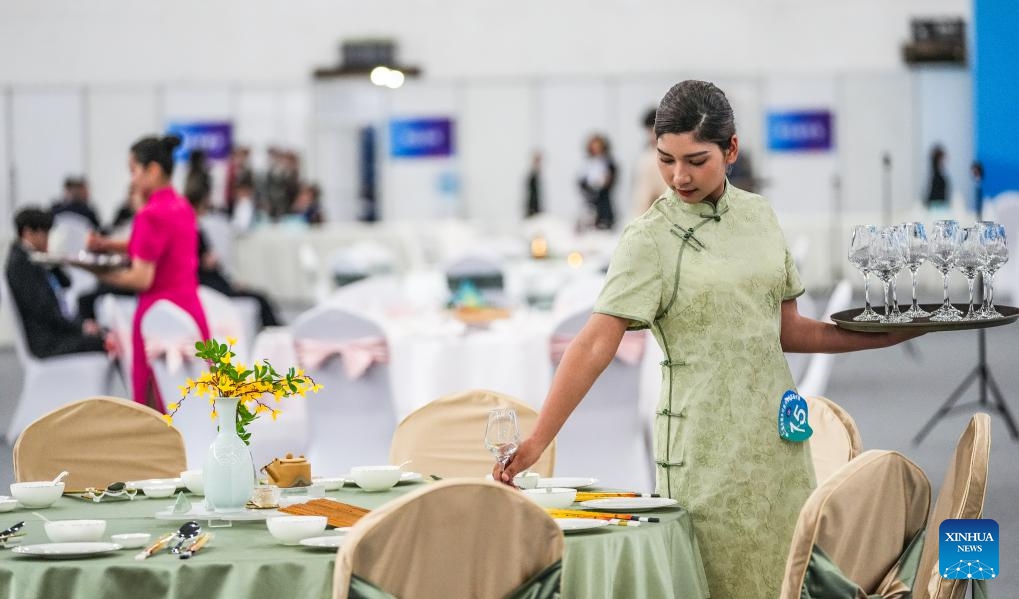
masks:
[[[12,102],[14,204],[49,206],[65,176],[85,172],[83,90],[15,90]]]

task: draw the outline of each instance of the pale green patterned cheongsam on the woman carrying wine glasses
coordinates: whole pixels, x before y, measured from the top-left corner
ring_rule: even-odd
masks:
[[[794,387],[782,302],[802,292],[770,206],[727,182],[714,206],[671,192],[628,226],[595,304],[664,351],[657,489],[691,511],[712,599],[779,596],[815,486],[807,444],[775,421]]]

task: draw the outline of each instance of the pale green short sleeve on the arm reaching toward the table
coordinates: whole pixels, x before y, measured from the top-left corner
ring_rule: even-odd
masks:
[[[627,227],[608,265],[594,312],[630,321],[631,330],[646,329],[661,309],[661,260],[651,235]]]

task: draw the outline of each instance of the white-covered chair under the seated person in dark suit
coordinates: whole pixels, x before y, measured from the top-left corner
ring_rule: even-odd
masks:
[[[0,306],[7,313],[14,340],[14,355],[21,365],[21,390],[6,426],[7,442],[13,444],[34,420],[65,403],[109,392],[114,363],[102,351],[36,358],[29,349],[21,315],[11,295],[6,276],[0,276]]]

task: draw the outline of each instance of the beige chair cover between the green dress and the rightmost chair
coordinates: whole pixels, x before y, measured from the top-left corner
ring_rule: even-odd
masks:
[[[865,451],[814,489],[800,510],[782,598],[800,598],[815,547],[862,592],[908,596],[908,588],[895,588],[902,586],[896,564],[929,509],[930,483],[918,466],[895,451]]]

